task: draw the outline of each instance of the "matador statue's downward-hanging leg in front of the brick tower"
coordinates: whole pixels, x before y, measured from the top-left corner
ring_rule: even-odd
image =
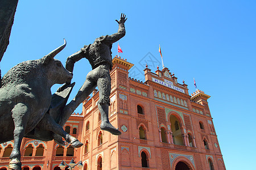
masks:
[[[97,81],[100,100],[98,109],[101,113],[101,129],[109,131],[114,135],[121,135],[121,131],[117,130],[109,122],[109,105],[110,105],[110,91],[111,91],[111,78],[109,71]]]

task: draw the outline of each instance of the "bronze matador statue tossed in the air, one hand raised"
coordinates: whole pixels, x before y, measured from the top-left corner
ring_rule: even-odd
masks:
[[[116,20],[119,24],[117,33],[110,36],[106,35],[98,37],[93,44],[85,45],[79,52],[76,52],[67,58],[65,67],[68,71],[73,72],[75,62],[79,61],[81,58],[87,58],[89,60],[90,65],[92,66],[92,71],[87,74],[86,80],[75,98],[65,106],[60,120],[61,126],[64,126],[69,116],[71,116],[80,103],[82,103],[82,101],[84,101],[98,86],[100,95],[98,109],[101,113],[101,129],[109,131],[114,135],[121,135],[121,131],[114,128],[109,122],[109,96],[111,91],[109,71],[112,70],[112,44],[125,36],[126,19],[126,15],[121,14],[120,20]],[[71,82],[66,82],[66,84],[70,83]]]

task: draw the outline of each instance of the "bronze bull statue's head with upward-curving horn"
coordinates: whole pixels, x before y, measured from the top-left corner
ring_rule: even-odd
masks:
[[[59,60],[53,58],[56,56],[57,53],[65,48],[66,44],[67,42],[64,39],[63,45],[59,46],[59,48],[56,48],[51,53],[47,54],[42,58],[45,69],[44,73],[46,74],[49,83],[51,83],[52,85],[63,84],[70,81],[73,77],[73,74],[66,70]]]

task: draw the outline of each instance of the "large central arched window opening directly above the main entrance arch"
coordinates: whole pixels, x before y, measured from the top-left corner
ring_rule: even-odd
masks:
[[[172,141],[175,145],[184,145],[180,121],[173,114],[170,116]]]

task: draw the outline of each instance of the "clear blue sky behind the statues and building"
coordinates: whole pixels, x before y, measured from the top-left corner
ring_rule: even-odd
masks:
[[[144,80],[146,62],[152,71],[162,68],[160,44],[164,66],[178,82],[184,79],[191,94],[195,77],[197,87],[212,96],[226,168],[255,169],[256,1],[19,1],[2,76],[19,62],[48,54],[63,38],[67,46],[55,58],[65,64],[85,44],[117,32],[121,12],[128,19],[120,56],[135,64],[130,76]],[[117,55],[117,43],[112,52]],[[76,63],[71,99],[90,70],[86,59]]]

